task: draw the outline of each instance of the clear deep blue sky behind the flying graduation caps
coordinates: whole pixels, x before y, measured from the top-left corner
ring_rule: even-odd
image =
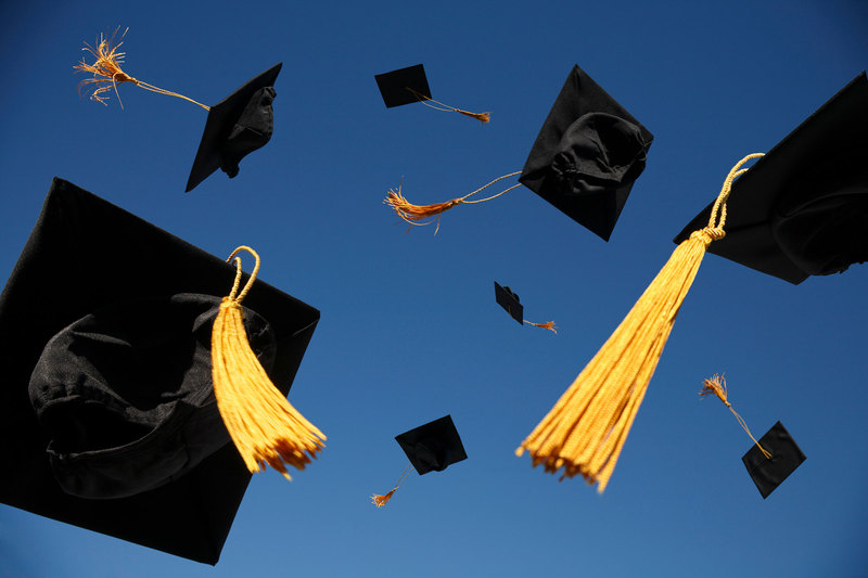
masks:
[[[235,179],[183,193],[202,110],[78,97],[82,42],[116,26],[129,74],[209,104],[283,62],[275,136]],[[866,68],[866,33],[856,0],[3,2],[0,275],[54,176],[214,255],[255,247],[322,312],[290,399],[329,440],[292,483],[254,477],[216,567],[0,505],[0,575],[866,576],[868,266],[796,286],[706,256],[605,493],[513,454],[729,168]],[[418,63],[492,123],[386,110],[373,75]],[[405,233],[388,189],[427,204],[521,170],[574,64],[655,137],[611,241],[525,188]],[[560,333],[519,326],[493,281]],[[755,435],[780,420],[807,454],[765,501],[750,439],[697,395],[720,372]],[[375,509],[394,436],[446,413],[469,459]]]

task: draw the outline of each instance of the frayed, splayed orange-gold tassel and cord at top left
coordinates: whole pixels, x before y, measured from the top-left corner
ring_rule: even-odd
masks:
[[[120,48],[123,41],[115,43],[115,37],[117,36],[117,31],[120,29],[118,26],[115,28],[114,34],[112,37],[106,39],[103,35],[100,35],[100,41],[97,43],[97,48],[91,47],[87,42],[85,42],[85,48],[81,50],[86,52],[90,52],[97,61],[93,64],[88,64],[85,62],[85,59],[81,59],[81,62],[78,63],[77,66],[73,66],[76,70],[80,70],[82,73],[91,73],[93,74],[93,78],[88,78],[86,80],[81,80],[78,84],[78,94],[81,95],[81,89],[92,89],[90,94],[90,100],[98,101],[103,103],[104,105],[108,105],[106,103],[107,97],[103,94],[105,92],[111,91],[114,89],[115,94],[117,95],[117,101],[120,102],[120,94],[117,92],[117,85],[123,85],[124,82],[132,82],[139,88],[143,88],[144,90],[150,90],[151,92],[156,92],[157,94],[166,94],[168,97],[177,97],[179,99],[183,99],[188,102],[192,102],[197,106],[202,106],[206,111],[210,111],[209,106],[205,106],[204,104],[194,101],[193,99],[188,99],[183,94],[178,94],[177,92],[171,92],[170,90],[165,90],[162,88],[157,88],[153,85],[149,85],[148,82],[138,80],[122,69],[122,64],[124,64],[124,59],[126,57],[126,52],[118,52],[117,49]],[[123,39],[126,36],[129,28],[124,30],[124,34],[120,35]],[[111,86],[110,86],[111,85]],[[120,108],[124,108],[124,103],[120,102]]]

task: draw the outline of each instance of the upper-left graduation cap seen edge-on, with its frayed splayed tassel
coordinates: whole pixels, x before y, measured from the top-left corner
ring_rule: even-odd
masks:
[[[120,39],[127,30],[120,35],[120,38],[117,38],[118,30],[119,28],[110,38],[101,35],[95,47],[85,43],[82,50],[89,52],[97,60],[89,64],[82,59],[78,65],[74,66],[77,70],[93,75],[92,78],[79,82],[79,93],[82,89],[90,90],[91,100],[106,104],[108,92],[114,90],[117,93],[118,85],[130,82],[151,92],[177,97],[201,106],[208,111],[208,118],[193,160],[193,167],[190,170],[186,192],[192,191],[218,168],[230,179],[235,177],[241,159],[265,146],[271,139],[273,131],[271,103],[277,94],[273,84],[283,63],[278,63],[252,78],[214,106],[207,106],[183,94],[155,87],[125,73],[122,66],[126,53],[119,52],[118,48],[124,43]]]

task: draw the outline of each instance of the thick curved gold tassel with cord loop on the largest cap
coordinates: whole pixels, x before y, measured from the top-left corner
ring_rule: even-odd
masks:
[[[239,293],[241,258],[235,255],[241,251],[253,255],[256,266]],[[323,448],[326,436],[286,401],[251,350],[241,301],[259,271],[259,256],[252,248],[240,246],[227,261],[232,258],[235,259],[235,282],[229,296],[220,303],[212,331],[214,395],[247,470],[260,472],[268,464],[292,479],[286,465],[304,470]]]

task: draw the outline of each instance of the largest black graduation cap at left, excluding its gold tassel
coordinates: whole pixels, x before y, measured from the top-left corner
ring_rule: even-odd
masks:
[[[230,264],[55,178],[0,294],[0,451],[15,464],[0,476],[0,502],[215,564],[251,477],[234,446],[220,442],[226,431],[209,413],[210,394],[202,390],[210,384],[200,361],[209,343],[202,342],[233,280]],[[167,303],[171,310],[164,309]],[[243,305],[251,312],[252,346],[260,358],[273,358],[265,365],[285,394],[319,311],[259,280]],[[189,334],[153,341],[161,332],[152,321],[167,323],[168,333]],[[176,356],[162,365],[149,362],[167,355],[173,341],[180,347]],[[124,362],[137,354],[144,356],[138,365]],[[73,384],[64,377],[91,369],[100,375]],[[130,377],[139,371],[139,380]],[[205,380],[196,383],[197,375]],[[138,389],[145,383],[162,387],[161,402]],[[115,420],[113,427],[116,415],[104,410],[114,407],[142,419]],[[51,415],[54,409],[60,415]],[[82,474],[82,462],[68,459],[82,447],[108,450],[114,461],[91,455]],[[130,452],[126,462],[119,459],[124,451]],[[159,451],[166,462],[146,463]],[[64,454],[66,474],[52,468]],[[145,478],[125,477],[125,463]],[[102,474],[107,487],[100,485]]]

